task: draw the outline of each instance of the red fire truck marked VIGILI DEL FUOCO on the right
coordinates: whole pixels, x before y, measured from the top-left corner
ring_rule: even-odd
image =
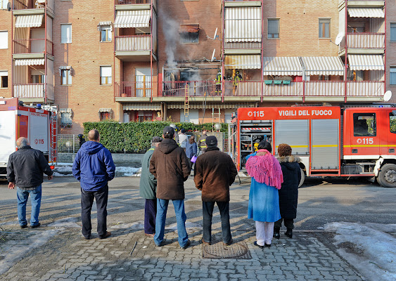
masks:
[[[239,108],[236,166],[267,140],[274,155],[287,143],[302,176],[367,176],[396,187],[396,108],[390,105]]]

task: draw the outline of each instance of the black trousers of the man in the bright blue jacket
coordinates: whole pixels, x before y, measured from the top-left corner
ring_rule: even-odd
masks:
[[[96,200],[96,218],[98,220],[98,236],[103,237],[107,231],[107,201],[108,201],[108,185],[106,184],[97,191],[86,191],[81,189],[81,220],[82,235],[88,238],[91,236],[91,209]]]

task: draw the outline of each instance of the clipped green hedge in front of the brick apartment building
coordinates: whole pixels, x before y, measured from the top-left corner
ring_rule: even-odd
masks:
[[[101,133],[101,143],[113,153],[136,153],[146,152],[150,148],[153,136],[162,136],[162,129],[172,122],[148,121],[118,123],[113,121],[85,122],[84,135],[91,129],[97,129]],[[212,131],[212,123],[174,123],[180,129],[186,131]],[[228,133],[228,124],[222,124],[223,133]]]

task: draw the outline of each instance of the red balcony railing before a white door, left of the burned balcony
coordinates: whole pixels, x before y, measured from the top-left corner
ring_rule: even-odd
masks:
[[[115,82],[116,98],[150,98],[152,95],[157,96],[156,82]]]

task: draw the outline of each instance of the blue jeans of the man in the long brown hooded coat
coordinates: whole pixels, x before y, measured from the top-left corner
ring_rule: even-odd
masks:
[[[180,247],[186,246],[189,235],[186,231],[186,212],[184,211],[184,200],[172,200],[174,213],[177,221],[177,235],[179,236]],[[157,217],[155,218],[154,242],[159,245],[164,240],[165,218],[167,217],[167,206],[169,200],[157,198]]]

